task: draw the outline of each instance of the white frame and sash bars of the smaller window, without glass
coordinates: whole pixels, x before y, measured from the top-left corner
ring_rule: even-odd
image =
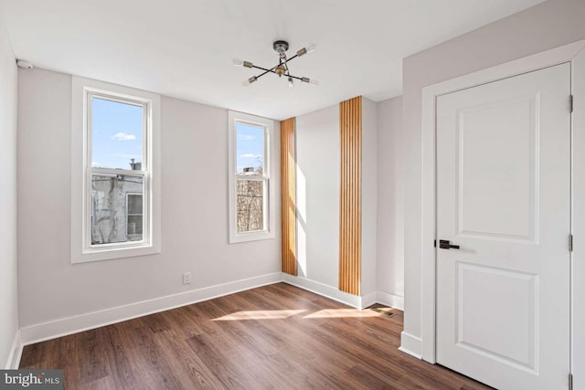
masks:
[[[261,239],[274,238],[275,219],[274,219],[274,180],[272,167],[274,166],[274,121],[258,116],[245,114],[236,111],[229,111],[229,243],[256,241]],[[245,123],[252,126],[258,126],[264,129],[264,166],[262,175],[238,174],[237,158],[238,156],[238,132],[236,123]],[[263,219],[264,230],[251,232],[238,232],[238,180],[257,180],[263,181]]]

